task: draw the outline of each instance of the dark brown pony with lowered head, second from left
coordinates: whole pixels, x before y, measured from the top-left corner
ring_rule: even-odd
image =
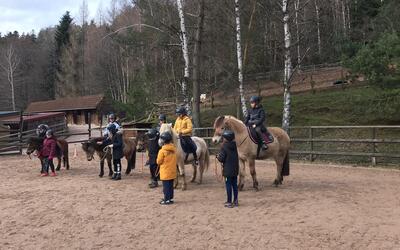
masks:
[[[91,161],[94,159],[94,154],[96,153],[100,157],[100,174],[99,177],[104,176],[104,161],[107,160],[107,165],[108,165],[108,176],[113,175],[113,170],[112,170],[112,155],[111,155],[111,150],[104,151],[104,148],[106,147],[105,145],[97,144],[97,142],[103,141],[103,137],[94,137],[89,139],[86,142],[82,142],[82,149],[86,153],[86,159],[88,161]],[[128,162],[128,166],[126,168],[125,174],[128,175],[131,173],[132,169],[135,169],[136,165],[136,140],[131,140],[127,138],[123,138],[124,141],[124,146],[123,146],[123,151],[124,151],[124,157]]]

